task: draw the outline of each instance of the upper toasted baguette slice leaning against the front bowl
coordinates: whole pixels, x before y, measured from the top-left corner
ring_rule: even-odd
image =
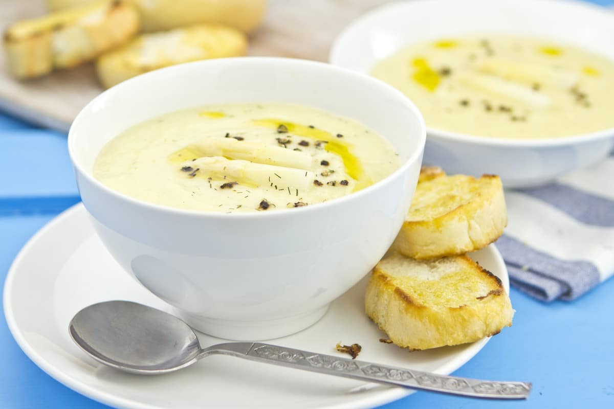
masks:
[[[464,254],[499,239],[506,224],[499,177],[447,176],[424,168],[392,248],[415,259]]]

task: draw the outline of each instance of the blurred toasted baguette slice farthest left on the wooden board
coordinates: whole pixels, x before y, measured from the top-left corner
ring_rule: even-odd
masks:
[[[4,33],[10,72],[17,78],[74,67],[122,44],[138,31],[136,9],[119,0],[18,21]]]

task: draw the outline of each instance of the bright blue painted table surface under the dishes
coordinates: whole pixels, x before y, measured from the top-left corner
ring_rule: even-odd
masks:
[[[66,136],[0,113],[0,278],[37,230],[78,201]],[[532,381],[528,400],[495,403],[417,392],[381,408],[614,408],[614,280],[572,303],[543,304],[515,289],[510,297],[516,309],[513,327],[454,374]],[[107,408],[34,365],[4,320],[0,356],[0,408]]]

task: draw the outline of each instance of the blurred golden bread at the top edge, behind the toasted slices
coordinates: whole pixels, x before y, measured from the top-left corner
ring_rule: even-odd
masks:
[[[92,0],[47,0],[61,10]],[[200,23],[221,23],[243,32],[260,25],[266,0],[128,0],[139,10],[144,32],[163,31]]]

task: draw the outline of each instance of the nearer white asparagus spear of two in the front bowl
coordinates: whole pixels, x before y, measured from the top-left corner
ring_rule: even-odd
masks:
[[[292,167],[265,165],[241,159],[230,160],[221,156],[198,158],[195,161],[185,161],[184,166],[198,169],[196,174],[210,175],[228,182],[243,182],[249,185],[277,185],[279,189],[290,188],[304,190],[313,185],[316,174],[309,170]]]

